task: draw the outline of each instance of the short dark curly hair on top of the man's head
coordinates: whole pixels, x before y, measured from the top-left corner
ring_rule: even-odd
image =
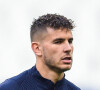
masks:
[[[47,27],[53,29],[67,28],[72,30],[74,28],[74,24],[71,19],[67,19],[66,17],[58,14],[46,14],[40,16],[38,19],[35,19],[33,21],[33,24],[31,25],[31,31],[30,31],[31,42],[33,41],[36,32],[42,33],[42,31],[46,30]]]

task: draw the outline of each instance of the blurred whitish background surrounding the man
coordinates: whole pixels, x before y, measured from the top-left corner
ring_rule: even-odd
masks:
[[[100,90],[99,0],[0,0],[0,83],[35,65],[30,26],[47,13],[64,15],[76,25],[66,79],[82,90]]]

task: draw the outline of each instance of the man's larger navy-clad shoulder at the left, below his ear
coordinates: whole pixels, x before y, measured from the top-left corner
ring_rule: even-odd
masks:
[[[31,74],[31,69],[22,72],[21,74],[9,78],[0,84],[0,90],[20,90],[21,84],[27,80]]]

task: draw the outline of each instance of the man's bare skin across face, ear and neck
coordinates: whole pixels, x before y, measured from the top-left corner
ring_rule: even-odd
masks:
[[[43,35],[43,40],[32,42],[36,68],[44,78],[56,83],[64,77],[64,71],[72,66],[72,32],[69,29],[47,28]]]

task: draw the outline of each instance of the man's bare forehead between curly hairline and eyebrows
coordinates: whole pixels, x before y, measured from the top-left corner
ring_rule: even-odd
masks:
[[[69,29],[57,29],[47,28],[46,39],[56,39],[56,38],[72,38],[72,31]]]

